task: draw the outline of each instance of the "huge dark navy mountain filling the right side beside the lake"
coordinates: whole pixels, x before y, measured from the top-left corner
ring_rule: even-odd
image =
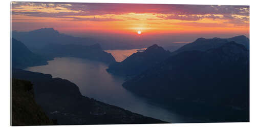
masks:
[[[190,116],[249,121],[249,51],[231,41],[207,51],[181,52],[123,87]]]

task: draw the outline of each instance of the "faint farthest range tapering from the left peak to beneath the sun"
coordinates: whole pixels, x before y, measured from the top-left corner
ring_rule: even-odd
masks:
[[[49,44],[59,45],[82,45],[90,46],[100,44],[102,49],[136,49],[144,48],[136,44],[132,45],[131,41],[124,41],[105,37],[75,37],[68,34],[59,33],[53,28],[41,28],[28,32],[12,31],[12,37],[22,41],[32,52],[37,52]],[[134,42],[134,41],[133,41]]]

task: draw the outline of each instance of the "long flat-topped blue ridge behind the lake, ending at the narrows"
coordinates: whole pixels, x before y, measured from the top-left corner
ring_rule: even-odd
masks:
[[[39,54],[50,57],[78,57],[86,58],[96,61],[102,61],[106,63],[115,62],[115,58],[111,53],[103,51],[99,44],[91,46],[83,45],[59,45],[59,44],[49,44],[38,51]]]

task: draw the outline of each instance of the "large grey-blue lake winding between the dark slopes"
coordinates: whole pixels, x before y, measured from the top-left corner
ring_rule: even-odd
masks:
[[[129,52],[124,51],[124,55],[127,53]],[[75,83],[84,96],[116,105],[144,116],[172,123],[191,122],[194,120],[166,110],[157,103],[150,102],[125,90],[122,87],[124,79],[106,72],[108,65],[103,62],[74,57],[54,58],[54,60],[48,62],[48,65],[29,67],[26,70],[51,74],[54,78],[67,79]]]

